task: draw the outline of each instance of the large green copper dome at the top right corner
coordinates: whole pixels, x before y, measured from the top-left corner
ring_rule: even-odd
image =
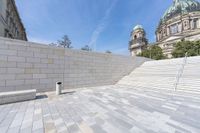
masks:
[[[168,20],[176,15],[200,11],[200,3],[196,0],[174,0],[172,6],[165,12],[162,20]]]

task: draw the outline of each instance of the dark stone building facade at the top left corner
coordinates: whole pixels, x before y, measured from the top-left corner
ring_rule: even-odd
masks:
[[[14,0],[0,0],[0,36],[27,40]]]

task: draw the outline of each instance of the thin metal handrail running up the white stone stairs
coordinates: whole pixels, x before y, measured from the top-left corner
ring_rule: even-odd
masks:
[[[179,71],[178,71],[178,73],[176,75],[175,84],[174,84],[174,91],[177,90],[177,86],[179,84],[179,80],[180,80],[181,76],[183,75],[183,70],[184,70],[184,67],[185,67],[185,65],[187,63],[187,57],[188,56],[187,56],[187,52],[186,52],[185,53],[185,58],[183,59],[183,64],[181,65],[181,67],[180,67],[180,69],[179,69]]]

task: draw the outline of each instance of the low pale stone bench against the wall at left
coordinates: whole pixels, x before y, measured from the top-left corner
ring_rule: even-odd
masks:
[[[36,90],[12,91],[0,93],[0,105],[14,102],[33,100],[36,98]]]

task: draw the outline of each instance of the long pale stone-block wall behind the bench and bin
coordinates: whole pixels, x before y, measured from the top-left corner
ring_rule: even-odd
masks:
[[[145,60],[0,38],[0,92],[115,84]]]

